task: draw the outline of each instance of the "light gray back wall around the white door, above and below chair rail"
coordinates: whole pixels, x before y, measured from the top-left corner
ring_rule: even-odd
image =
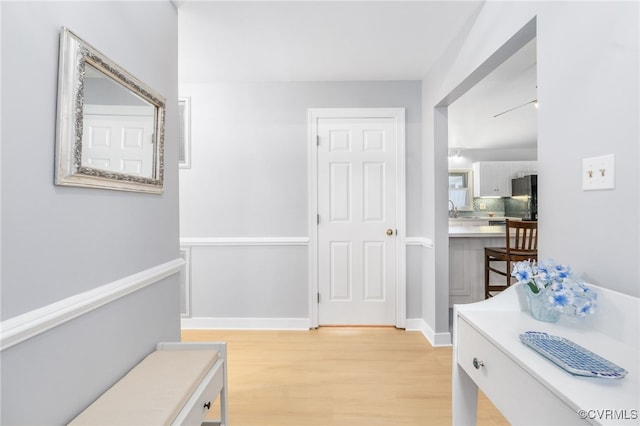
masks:
[[[181,82],[192,114],[192,168],[180,171],[181,237],[308,237],[307,115],[319,107],[406,108],[407,235],[419,235],[420,85]],[[192,316],[308,318],[307,263],[306,246],[193,247]],[[419,298],[419,268],[409,255],[410,300]],[[407,306],[410,317],[420,316],[415,303]]]

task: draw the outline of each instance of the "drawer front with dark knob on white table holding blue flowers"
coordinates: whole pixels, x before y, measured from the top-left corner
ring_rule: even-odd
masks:
[[[516,337],[517,338],[517,337]],[[458,320],[456,362],[512,424],[586,424],[576,410],[469,325]],[[514,386],[517,384],[517,386]]]

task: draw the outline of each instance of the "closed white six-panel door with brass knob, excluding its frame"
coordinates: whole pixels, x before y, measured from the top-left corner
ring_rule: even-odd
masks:
[[[319,325],[395,325],[394,118],[317,120]]]

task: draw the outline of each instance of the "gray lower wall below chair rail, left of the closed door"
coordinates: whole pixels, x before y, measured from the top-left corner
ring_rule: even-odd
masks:
[[[191,317],[307,318],[307,250],[290,238],[192,245]]]

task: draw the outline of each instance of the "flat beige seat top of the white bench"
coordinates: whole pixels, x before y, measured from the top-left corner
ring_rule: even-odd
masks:
[[[170,424],[217,359],[213,350],[153,352],[70,424]]]

